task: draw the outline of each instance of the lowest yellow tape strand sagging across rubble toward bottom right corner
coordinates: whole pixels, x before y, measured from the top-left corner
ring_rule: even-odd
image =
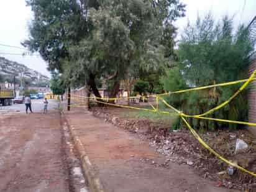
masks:
[[[207,145],[203,139],[201,139],[201,137],[196,133],[196,131],[190,126],[190,124],[188,123],[188,121],[186,121],[186,119],[181,116],[181,119],[183,119],[183,121],[185,122],[186,126],[188,126],[188,129],[190,130],[191,134],[194,135],[194,137],[199,141],[200,144],[202,144],[206,149],[209,150],[209,152],[213,153],[214,155],[216,155],[217,158],[221,159],[223,162],[232,165],[233,167],[238,168],[241,171],[244,171],[245,173],[249,173],[252,176],[256,176],[256,173],[246,170],[243,167],[240,167],[239,165],[237,165],[237,163],[233,163],[229,160],[227,160],[226,158],[222,157],[221,155],[219,155],[219,153],[217,153],[215,150],[211,149],[211,147],[209,147],[209,145]]]

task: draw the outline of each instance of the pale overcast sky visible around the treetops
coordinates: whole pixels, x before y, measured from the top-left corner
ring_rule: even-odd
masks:
[[[216,19],[225,14],[234,16],[235,26],[245,22],[248,24],[256,15],[255,0],[181,0],[186,6],[186,17],[175,22],[178,32],[181,33],[188,19],[195,21],[198,14],[204,16],[211,11]],[[27,39],[29,33],[27,25],[32,18],[32,12],[25,6],[25,0],[0,0],[0,43],[21,47],[22,40]],[[2,53],[23,53],[16,48],[0,45],[0,56],[6,57],[29,68],[50,76],[47,63],[39,56],[3,55]]]

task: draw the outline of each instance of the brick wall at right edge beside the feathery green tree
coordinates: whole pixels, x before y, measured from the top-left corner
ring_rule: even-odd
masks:
[[[250,57],[248,71],[249,76],[256,70],[256,52],[252,57]],[[250,89],[248,93],[248,103],[249,103],[249,122],[256,122],[256,81],[250,83]],[[250,132],[256,135],[256,127],[249,126]]]

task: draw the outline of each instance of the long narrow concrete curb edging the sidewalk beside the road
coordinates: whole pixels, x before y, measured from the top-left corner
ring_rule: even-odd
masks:
[[[66,122],[68,129],[70,129],[71,136],[74,140],[75,149],[77,150],[78,155],[80,157],[83,173],[86,176],[89,183],[90,192],[104,192],[105,190],[103,188],[103,185],[101,184],[101,181],[99,180],[99,177],[97,176],[96,171],[93,165],[91,164],[88,155],[86,155],[85,147],[83,147],[80,138],[75,135],[75,127],[70,127],[70,124],[68,124],[68,120],[66,119],[66,116],[63,112],[62,118]]]

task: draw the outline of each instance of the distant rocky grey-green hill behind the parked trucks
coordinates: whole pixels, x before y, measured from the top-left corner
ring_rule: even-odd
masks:
[[[4,57],[0,57],[0,81],[12,80],[14,76],[19,80],[21,73],[22,77],[30,82],[30,85],[49,84],[50,79],[48,76],[42,75],[42,73],[32,70],[21,63],[12,62]]]

